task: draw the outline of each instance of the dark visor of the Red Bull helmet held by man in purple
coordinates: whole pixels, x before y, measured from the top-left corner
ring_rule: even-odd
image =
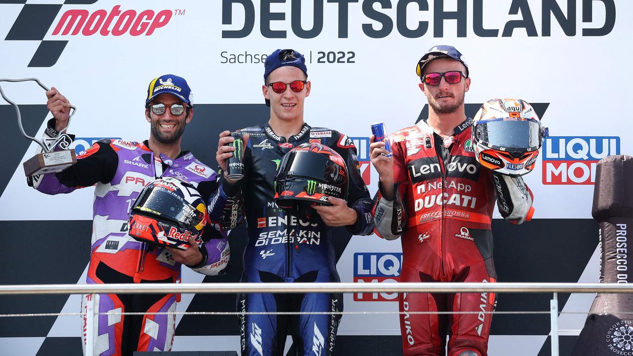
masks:
[[[145,215],[158,215],[163,219],[172,220],[185,226],[196,226],[203,216],[187,201],[168,189],[153,187],[146,189],[134,202],[132,210],[144,212]]]

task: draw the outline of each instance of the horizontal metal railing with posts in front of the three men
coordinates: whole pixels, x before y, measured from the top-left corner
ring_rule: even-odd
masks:
[[[633,293],[617,283],[151,283],[23,284],[0,286],[0,295],[88,293],[552,293],[549,303],[551,355],[558,356],[558,293]],[[541,313],[541,312],[539,312]],[[107,314],[107,313],[106,313]],[[327,314],[331,314],[327,312]],[[344,314],[344,313],[343,313]],[[373,314],[373,313],[372,313]],[[87,350],[91,346],[94,310],[86,312]],[[13,316],[13,315],[12,315]]]

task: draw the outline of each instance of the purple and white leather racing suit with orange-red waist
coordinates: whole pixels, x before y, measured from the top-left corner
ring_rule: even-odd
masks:
[[[44,138],[57,136],[49,121]],[[180,263],[165,248],[141,243],[128,235],[128,212],[141,190],[159,177],[176,177],[196,187],[208,201],[216,190],[216,173],[184,151],[172,160],[155,156],[144,143],[104,139],[77,156],[77,163],[56,174],[30,177],[29,184],[46,194],[70,193],[95,186],[91,259],[87,283],[178,283]],[[188,266],[215,276],[229,265],[225,232],[207,226],[200,247],[203,260]],[[173,312],[179,295],[85,295],[82,311]],[[94,350],[87,355],[132,355],[134,351],[168,351],[175,333],[175,315],[97,315]]]

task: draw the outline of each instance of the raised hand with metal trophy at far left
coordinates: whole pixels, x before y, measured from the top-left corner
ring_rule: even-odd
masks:
[[[68,149],[72,138],[66,134],[66,129],[70,124],[70,118],[75,115],[77,108],[70,105],[68,100],[62,96],[56,89],[48,89],[37,78],[26,79],[0,79],[0,82],[37,82],[42,89],[46,90],[46,96],[49,99],[47,101],[47,107],[53,113],[55,118],[55,132],[51,130],[45,130],[42,140],[38,140],[35,137],[28,136],[22,127],[22,115],[20,108],[16,103],[11,101],[4,95],[4,91],[0,86],[0,95],[3,99],[11,104],[15,108],[15,112],[18,115],[18,127],[22,136],[32,141],[35,141],[41,147],[41,150],[37,155],[29,158],[27,162],[24,162],[24,174],[28,176],[60,172],[67,167],[70,167],[74,163],[77,163],[77,156],[74,149]],[[72,110],[71,110],[72,109]],[[49,132],[51,131],[51,132]]]

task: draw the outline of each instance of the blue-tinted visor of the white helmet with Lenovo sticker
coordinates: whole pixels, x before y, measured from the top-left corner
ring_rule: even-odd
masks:
[[[533,118],[493,118],[475,125],[475,138],[484,146],[504,151],[541,148],[541,122]]]

